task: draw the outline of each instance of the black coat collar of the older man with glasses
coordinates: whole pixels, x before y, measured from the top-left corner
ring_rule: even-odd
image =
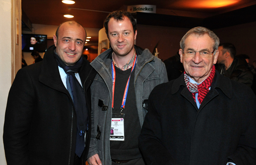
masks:
[[[178,92],[181,86],[186,88],[186,83],[184,81],[184,73],[181,74],[179,78],[174,80],[172,94]],[[216,90],[215,88],[219,88],[228,98],[232,98],[232,84],[230,79],[228,77],[220,75],[220,73],[218,72],[215,73],[214,80],[211,84],[211,90]]]

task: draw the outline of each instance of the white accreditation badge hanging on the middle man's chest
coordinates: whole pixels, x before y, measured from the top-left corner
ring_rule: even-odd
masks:
[[[110,140],[124,141],[124,114],[112,114]]]

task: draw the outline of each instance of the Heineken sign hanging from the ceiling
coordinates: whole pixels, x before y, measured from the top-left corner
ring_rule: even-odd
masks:
[[[135,12],[155,13],[156,6],[147,5],[147,4],[133,5],[133,6],[128,6],[127,11],[129,11],[130,13],[135,13]]]

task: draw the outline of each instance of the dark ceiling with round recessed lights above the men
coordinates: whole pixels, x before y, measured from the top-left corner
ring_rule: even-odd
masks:
[[[34,24],[60,25],[61,22],[75,20],[83,27],[102,28],[103,21],[108,15],[106,12],[127,10],[127,6],[137,4],[156,5],[156,14],[193,17],[193,19],[205,18],[203,22],[211,22],[222,18],[217,18],[217,15],[256,6],[256,0],[75,0],[75,4],[63,4],[61,0],[22,0],[22,9]],[[68,7],[72,9],[68,10]],[[256,13],[255,10],[253,11]],[[243,12],[246,10],[240,10],[238,15],[242,15]],[[74,15],[74,18],[64,18],[65,14]]]

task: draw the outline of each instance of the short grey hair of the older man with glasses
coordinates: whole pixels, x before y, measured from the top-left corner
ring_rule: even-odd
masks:
[[[214,45],[213,45],[213,49],[215,49],[214,54],[216,53],[216,50],[218,50],[219,38],[216,36],[215,33],[213,33],[213,31],[211,31],[210,29],[207,29],[205,27],[195,27],[195,28],[190,29],[181,39],[180,46],[181,46],[182,50],[184,50],[185,40],[187,39],[187,37],[190,34],[195,34],[198,36],[203,36],[204,34],[208,34],[209,37],[211,37],[211,39],[214,40]]]

